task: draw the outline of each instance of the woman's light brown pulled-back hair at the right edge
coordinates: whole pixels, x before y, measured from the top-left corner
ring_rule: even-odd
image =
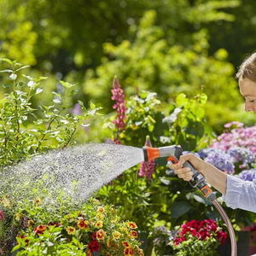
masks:
[[[236,73],[236,79],[250,79],[251,81],[256,82],[256,52],[242,61],[241,66]]]

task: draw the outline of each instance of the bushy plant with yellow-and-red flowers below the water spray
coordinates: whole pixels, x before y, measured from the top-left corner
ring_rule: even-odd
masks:
[[[49,208],[47,201],[35,199],[19,204],[15,225],[19,227],[17,255],[85,255],[101,252],[104,255],[121,255],[123,242],[143,255],[138,247],[137,225],[121,221],[113,206],[102,206],[90,199],[82,206]],[[93,245],[93,246],[92,246]],[[92,249],[93,247],[93,249]]]

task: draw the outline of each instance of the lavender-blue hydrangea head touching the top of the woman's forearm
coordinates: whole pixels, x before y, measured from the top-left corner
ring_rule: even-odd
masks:
[[[235,172],[235,166],[230,160],[229,154],[212,151],[207,155],[205,160],[223,172],[227,172],[229,174],[233,174]]]

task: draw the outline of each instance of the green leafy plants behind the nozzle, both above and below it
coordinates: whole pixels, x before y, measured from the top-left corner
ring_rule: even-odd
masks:
[[[211,136],[204,119],[206,102],[203,94],[195,99],[179,94],[175,103],[166,106],[156,93],[143,91],[126,102],[126,127],[119,139],[125,145],[142,147],[148,134],[154,147],[179,143],[185,150],[198,149]],[[113,124],[108,127],[113,129]],[[136,166],[97,193],[102,201],[118,206],[120,216],[132,217],[146,236],[158,223],[174,226],[188,218],[201,218],[207,206],[200,195],[191,193],[188,183],[166,172],[166,159],[157,160],[157,165],[152,179],[138,177]],[[212,209],[207,213],[212,214]],[[152,240],[148,239],[145,253],[150,255]]]

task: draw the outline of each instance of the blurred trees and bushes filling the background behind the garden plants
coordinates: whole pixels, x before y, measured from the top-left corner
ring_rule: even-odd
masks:
[[[235,79],[256,49],[255,9],[250,0],[0,0],[0,57],[49,77],[35,104],[49,104],[65,79],[78,84],[73,104],[110,113],[115,75],[127,98],[149,90],[168,105],[180,92],[204,92],[218,133],[229,121],[256,120]]]

